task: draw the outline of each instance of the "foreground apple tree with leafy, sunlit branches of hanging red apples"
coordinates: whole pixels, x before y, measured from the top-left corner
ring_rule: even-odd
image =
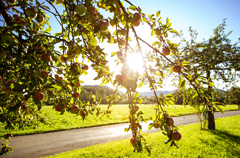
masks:
[[[0,12],[0,121],[6,129],[24,128],[43,120],[41,108],[47,98],[53,100],[52,106],[59,113],[70,112],[83,120],[88,114],[110,114],[110,107],[119,99],[118,89],[125,88],[130,122],[125,131],[132,132],[134,151],[145,148],[150,153],[142,134],[141,122],[147,119],[139,110],[142,100],[137,88],[148,85],[154,91],[156,113],[150,118],[153,123],[149,129],[163,130],[168,137],[165,143],[171,142],[171,146],[181,139],[174,120],[164,110],[164,106],[174,104],[174,97],[156,93],[163,87],[166,73],[179,78],[180,89],[186,88],[187,81],[201,98],[207,98],[190,79],[191,71],[181,59],[178,44],[168,39],[178,32],[171,28],[168,18],[162,20],[160,11],[146,15],[128,0],[4,0],[0,1]],[[103,13],[111,16],[104,17]],[[60,27],[54,33],[50,17]],[[136,28],[143,24],[151,30],[154,43],[138,36]],[[103,42],[118,46],[111,57],[121,67],[119,74],[110,71]],[[142,45],[149,50],[144,51]],[[142,74],[131,68],[128,57],[132,54],[140,54],[144,61]],[[89,67],[101,85],[112,83],[116,87],[114,94],[107,97],[107,110],[97,106],[95,96],[91,102],[79,99]],[[202,102],[207,104],[208,100]],[[1,154],[11,149],[11,136],[7,134],[7,140],[2,142]]]

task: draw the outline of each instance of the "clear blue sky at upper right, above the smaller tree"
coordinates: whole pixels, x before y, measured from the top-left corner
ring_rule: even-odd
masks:
[[[133,0],[145,13],[161,10],[163,19],[169,17],[172,27],[187,33],[189,26],[199,33],[199,40],[209,38],[213,29],[227,18],[226,31],[233,30],[230,38],[240,37],[239,0]]]

